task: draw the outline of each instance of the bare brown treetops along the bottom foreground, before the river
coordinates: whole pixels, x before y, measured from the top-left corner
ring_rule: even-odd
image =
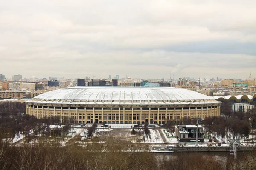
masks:
[[[104,152],[102,152],[102,150]],[[129,150],[129,153],[123,152]],[[137,152],[137,150],[144,152]],[[144,145],[116,139],[103,144],[79,147],[70,144],[11,146],[0,143],[0,169],[3,170],[240,170],[256,169],[255,153],[218,159],[205,153],[149,153]]]

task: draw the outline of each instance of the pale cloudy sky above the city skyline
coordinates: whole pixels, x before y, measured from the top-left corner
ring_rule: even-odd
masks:
[[[0,74],[256,77],[255,0],[2,0]]]

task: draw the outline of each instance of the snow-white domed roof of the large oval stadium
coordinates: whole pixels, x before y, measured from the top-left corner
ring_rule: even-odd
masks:
[[[172,87],[70,87],[26,102],[58,104],[201,104],[219,103],[210,96]]]

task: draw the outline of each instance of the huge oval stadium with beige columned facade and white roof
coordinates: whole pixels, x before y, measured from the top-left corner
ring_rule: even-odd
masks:
[[[71,123],[163,124],[219,116],[221,102],[172,87],[71,87],[27,100],[26,113]]]

